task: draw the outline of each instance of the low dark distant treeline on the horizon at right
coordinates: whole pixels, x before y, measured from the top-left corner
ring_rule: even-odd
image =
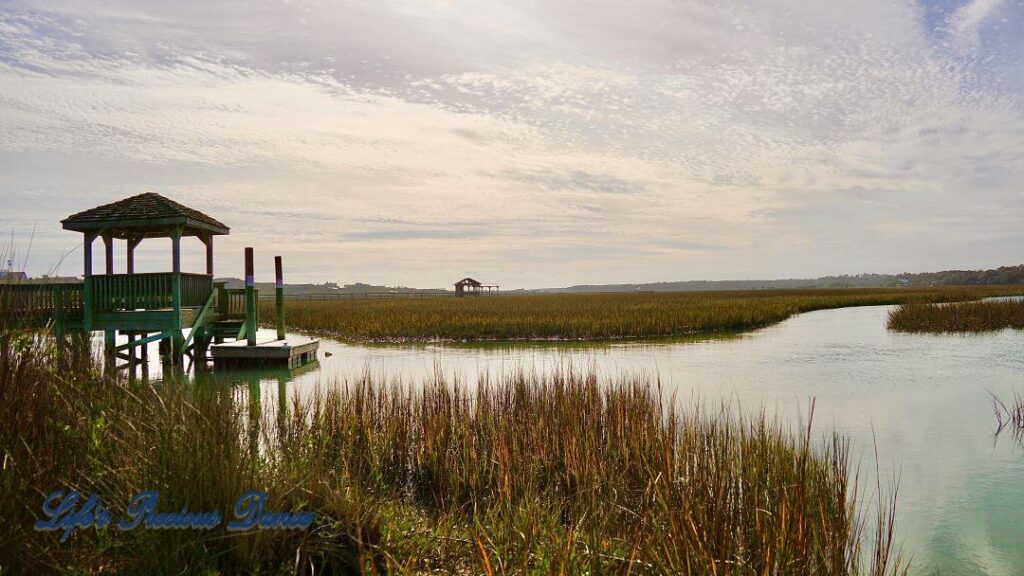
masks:
[[[895,288],[899,286],[997,286],[1024,284],[1024,264],[996,270],[952,270],[922,274],[858,274],[790,280],[694,280],[649,284],[598,284],[544,292],[685,292],[695,290],[778,290],[801,288]]]

